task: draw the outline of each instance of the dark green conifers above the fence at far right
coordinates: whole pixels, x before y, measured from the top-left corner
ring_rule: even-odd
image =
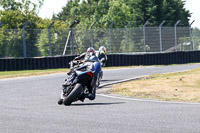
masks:
[[[184,2],[181,0],[153,0],[154,7],[152,8],[151,19],[152,25],[160,25],[163,20],[166,20],[167,26],[174,26],[174,24],[181,20],[180,25],[188,26],[190,13],[184,8]]]

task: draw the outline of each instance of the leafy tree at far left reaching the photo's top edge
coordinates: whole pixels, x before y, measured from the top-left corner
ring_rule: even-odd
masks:
[[[43,0],[38,0],[40,5]],[[2,26],[3,35],[1,35],[2,41],[0,47],[4,47],[4,55],[6,57],[22,57],[23,56],[23,44],[22,44],[22,27],[28,21],[27,29],[35,29],[40,23],[41,18],[37,14],[37,10],[40,7],[32,3],[30,0],[21,0],[16,2],[15,0],[2,0],[0,6],[4,10],[0,10],[0,22],[4,22]],[[11,29],[11,30],[10,30]],[[15,30],[13,30],[15,29]],[[26,30],[27,40],[27,56],[36,56],[38,53],[35,36],[37,32],[34,30]]]

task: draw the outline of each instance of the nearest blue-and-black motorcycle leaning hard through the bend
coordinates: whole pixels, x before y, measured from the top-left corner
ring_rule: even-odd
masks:
[[[95,87],[99,85],[102,70],[101,64],[97,60],[76,61],[76,65],[71,68],[65,83],[62,85],[61,97],[58,101],[59,105],[68,106],[78,100],[83,102],[94,85]],[[74,62],[72,61],[71,63]]]

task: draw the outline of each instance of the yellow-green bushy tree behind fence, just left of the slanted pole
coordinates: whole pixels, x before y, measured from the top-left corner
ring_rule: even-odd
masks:
[[[45,19],[40,23],[40,34],[37,36],[36,46],[39,49],[38,56],[49,55],[49,32],[47,28],[52,23],[51,20]],[[56,37],[55,37],[56,34]],[[54,20],[54,25],[51,28],[51,46],[53,55],[61,55],[67,40],[68,29],[63,21]]]

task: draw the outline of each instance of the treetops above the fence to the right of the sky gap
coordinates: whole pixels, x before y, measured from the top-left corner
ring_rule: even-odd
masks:
[[[89,28],[98,22],[97,28],[107,28],[115,21],[114,28],[124,28],[130,21],[132,26],[142,26],[149,20],[150,26],[174,26],[181,20],[182,26],[189,24],[190,13],[182,0],[69,0],[63,10],[54,15],[61,21],[80,21],[79,28]]]

